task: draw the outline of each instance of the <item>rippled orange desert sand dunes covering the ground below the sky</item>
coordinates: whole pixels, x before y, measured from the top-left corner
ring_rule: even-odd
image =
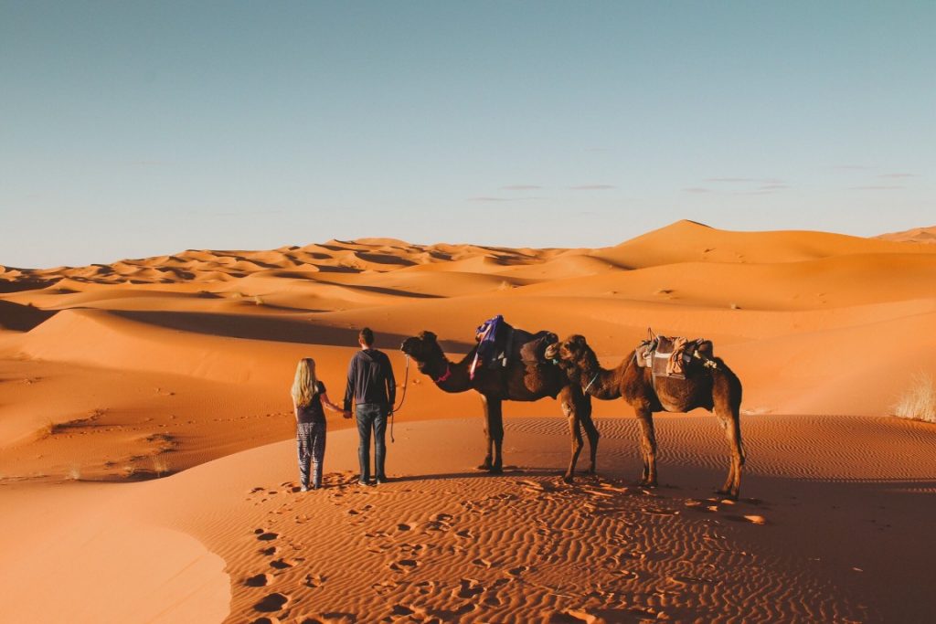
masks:
[[[889,414],[936,377],[932,229],[683,221],[604,249],[358,239],[2,267],[0,619],[925,621],[936,431]],[[742,500],[709,495],[726,445],[702,411],[657,417],[665,485],[633,486],[620,400],[593,404],[599,477],[558,479],[552,399],[506,404],[511,468],[474,472],[480,399],[407,377],[398,347],[431,329],[458,360],[496,313],[584,334],[606,367],[648,327],[714,341],[744,385]],[[352,486],[351,422],[331,416],[329,487],[300,497],[295,363],[342,399],[365,325],[406,387],[401,479]]]

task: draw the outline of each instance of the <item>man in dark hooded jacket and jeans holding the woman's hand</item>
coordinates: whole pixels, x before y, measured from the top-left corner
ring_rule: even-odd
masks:
[[[372,348],[373,331],[364,327],[358,334],[360,351],[348,365],[348,384],[344,390],[345,418],[351,417],[351,400],[354,399],[355,415],[358,419],[358,483],[371,485],[371,435],[373,433],[373,472],[377,484],[387,482],[384,460],[387,457],[387,418],[396,400],[397,387],[393,379],[390,359],[382,351]]]

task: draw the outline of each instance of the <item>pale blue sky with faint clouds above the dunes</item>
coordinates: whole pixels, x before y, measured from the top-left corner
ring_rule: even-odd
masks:
[[[7,2],[0,264],[936,224],[934,2]]]

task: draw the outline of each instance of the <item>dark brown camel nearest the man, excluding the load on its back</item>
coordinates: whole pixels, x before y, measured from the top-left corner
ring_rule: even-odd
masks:
[[[572,482],[578,454],[582,449],[581,428],[585,429],[591,450],[589,473],[595,470],[595,452],[598,448],[598,429],[592,422],[592,399],[585,395],[581,387],[572,384],[563,370],[553,364],[532,364],[519,360],[510,362],[506,367],[489,369],[481,366],[475,370],[471,379],[469,367],[475,358],[477,346],[454,363],[448,361],[442,347],[431,331],[420,332],[418,336],[403,341],[401,351],[411,356],[420,372],[428,375],[443,392],[465,392],[475,390],[481,395],[485,411],[485,436],[487,454],[484,462],[478,466],[481,470],[502,472],[504,468],[501,448],[504,443],[504,415],[502,402],[505,400],[532,401],[545,397],[559,398],[563,414],[569,421],[569,433],[572,437],[572,459],[565,472],[566,483]]]

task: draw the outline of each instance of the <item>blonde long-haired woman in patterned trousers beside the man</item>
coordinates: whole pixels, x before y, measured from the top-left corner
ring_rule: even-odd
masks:
[[[291,394],[296,413],[300,484],[302,491],[307,492],[310,459],[314,466],[312,489],[322,486],[322,460],[325,457],[325,411],[322,405],[332,412],[342,412],[342,409],[329,400],[325,384],[315,377],[315,361],[311,357],[300,359]]]

